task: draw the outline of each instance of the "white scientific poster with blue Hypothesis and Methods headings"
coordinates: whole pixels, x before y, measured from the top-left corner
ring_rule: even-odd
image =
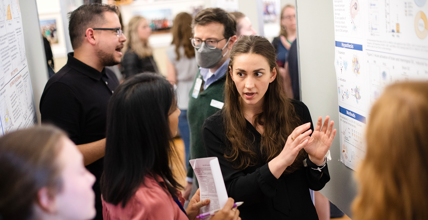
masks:
[[[366,155],[370,108],[392,83],[428,81],[427,0],[333,0],[341,161]]]

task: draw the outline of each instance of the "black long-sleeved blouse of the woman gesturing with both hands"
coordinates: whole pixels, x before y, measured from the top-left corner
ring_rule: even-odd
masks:
[[[310,129],[313,130],[308,107],[296,100],[292,100],[292,104],[302,124],[311,122]],[[218,111],[205,120],[202,138],[207,155],[217,156],[220,162],[229,197],[235,202],[244,202],[239,207],[242,220],[318,219],[309,188],[319,191],[330,180],[327,165],[321,168],[320,172],[315,170],[318,166],[307,158],[307,167],[288,175],[282,174],[279,179],[273,176],[268,163],[265,162],[245,169],[235,169],[232,162],[224,157],[226,143],[230,142],[225,136],[222,113],[223,111]],[[253,145],[255,149],[260,149],[262,135],[248,121],[247,131],[252,139],[253,135],[255,137]]]

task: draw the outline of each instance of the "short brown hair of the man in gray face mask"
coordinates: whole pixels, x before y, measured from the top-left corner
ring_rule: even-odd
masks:
[[[208,25],[209,23],[220,23],[224,26],[224,38],[230,38],[236,35],[236,19],[235,16],[229,14],[220,8],[209,8],[200,11],[193,19],[192,30],[195,25]]]

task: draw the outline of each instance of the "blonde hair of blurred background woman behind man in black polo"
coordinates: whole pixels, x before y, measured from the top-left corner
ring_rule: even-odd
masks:
[[[127,51],[128,49],[134,52],[138,55],[140,59],[149,57],[153,54],[153,49],[149,45],[149,40],[143,41],[140,39],[140,36],[138,36],[138,26],[140,25],[140,22],[146,20],[146,18],[141,16],[134,16],[129,20],[128,23],[128,32],[126,37],[128,37],[128,40],[125,42],[125,47],[123,51]]]

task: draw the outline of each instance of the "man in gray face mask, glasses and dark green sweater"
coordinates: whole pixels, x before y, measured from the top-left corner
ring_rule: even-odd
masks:
[[[229,55],[236,37],[236,20],[220,8],[204,9],[193,19],[193,38],[199,72],[190,90],[187,119],[190,128],[190,159],[207,157],[202,142],[205,119],[223,107],[223,90]],[[188,164],[187,186],[183,197],[187,200],[193,182],[193,169]],[[196,182],[197,184],[197,182]]]

